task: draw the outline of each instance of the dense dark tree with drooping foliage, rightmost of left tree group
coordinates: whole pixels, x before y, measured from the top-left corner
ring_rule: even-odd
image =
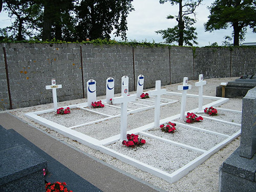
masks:
[[[110,38],[115,35],[126,39],[126,17],[134,10],[133,0],[82,0],[76,6],[78,24],[76,26],[77,40]]]

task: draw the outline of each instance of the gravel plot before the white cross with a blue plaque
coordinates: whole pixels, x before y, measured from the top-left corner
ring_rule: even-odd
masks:
[[[234,126],[227,123],[220,123],[210,119],[204,119],[203,121],[195,122],[195,123],[186,123],[185,119],[184,120],[176,119],[175,121],[179,123],[189,124],[191,126],[196,126],[201,129],[229,135],[229,136],[233,135],[234,133],[238,132],[241,129],[240,126]]]

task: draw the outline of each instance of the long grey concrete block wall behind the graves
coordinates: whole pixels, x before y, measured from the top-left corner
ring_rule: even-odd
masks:
[[[62,89],[57,90],[58,101],[65,101],[87,97],[86,82],[90,79],[96,80],[99,96],[105,95],[108,77],[115,79],[115,93],[120,93],[124,75],[129,77],[129,90],[133,91],[140,74],[145,76],[147,89],[155,87],[156,80],[164,86],[181,82],[184,76],[196,80],[201,73],[205,78],[217,78],[256,72],[253,48],[0,45],[1,110],[52,102],[52,92],[45,89],[52,78],[62,84]]]

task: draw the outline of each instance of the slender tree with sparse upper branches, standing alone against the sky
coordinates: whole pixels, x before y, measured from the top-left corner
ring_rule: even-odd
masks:
[[[196,28],[192,27],[196,23],[196,19],[190,18],[187,15],[193,14],[196,16],[195,10],[201,4],[202,0],[160,0],[160,4],[165,2],[170,2],[172,5],[179,5],[178,16],[168,15],[167,19],[176,18],[178,25],[174,28],[168,28],[167,30],[159,30],[156,33],[162,34],[162,38],[166,40],[167,43],[178,42],[179,46],[198,44],[196,42],[197,33]],[[184,3],[184,4],[183,4]],[[185,10],[183,9],[185,8]]]

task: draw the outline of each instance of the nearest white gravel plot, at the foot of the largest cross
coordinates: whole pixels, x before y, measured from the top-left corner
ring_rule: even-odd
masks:
[[[144,136],[139,136],[139,138],[145,139],[146,143],[136,148],[124,146],[121,141],[106,146],[169,174],[202,155],[202,153],[167,144],[157,139]]]

